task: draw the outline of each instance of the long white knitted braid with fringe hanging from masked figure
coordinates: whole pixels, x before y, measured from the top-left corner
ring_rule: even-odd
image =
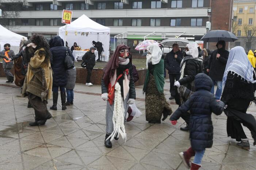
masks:
[[[114,131],[110,134],[110,136],[106,139],[110,138],[112,141],[117,135],[119,134],[125,139],[126,142],[126,133],[125,133],[125,118],[124,118],[125,108],[123,107],[123,99],[121,96],[121,86],[118,82],[115,84],[115,99],[114,99],[114,111],[113,111],[113,124],[114,124]]]

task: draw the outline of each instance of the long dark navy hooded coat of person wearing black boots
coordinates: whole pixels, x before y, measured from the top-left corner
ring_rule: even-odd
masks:
[[[68,76],[64,62],[66,57],[66,47],[64,46],[64,41],[60,36],[55,36],[51,38],[49,44],[52,55],[51,68],[53,69],[53,86],[66,86]],[[69,56],[74,60],[74,56],[70,52],[70,49],[68,49],[68,53]]]

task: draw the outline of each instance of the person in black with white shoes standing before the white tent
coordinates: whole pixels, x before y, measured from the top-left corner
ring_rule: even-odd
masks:
[[[91,75],[92,75],[92,69],[95,66],[95,47],[91,47],[90,51],[84,54],[82,60],[86,64],[86,69],[87,69],[87,78],[86,78],[86,85],[87,86],[92,86],[93,84],[91,83]]]

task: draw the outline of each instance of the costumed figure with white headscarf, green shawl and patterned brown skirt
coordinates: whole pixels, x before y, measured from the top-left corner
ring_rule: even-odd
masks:
[[[172,109],[164,96],[164,60],[162,51],[158,45],[149,45],[146,66],[148,68],[143,92],[146,92],[145,107],[146,121],[149,123],[161,123]]]

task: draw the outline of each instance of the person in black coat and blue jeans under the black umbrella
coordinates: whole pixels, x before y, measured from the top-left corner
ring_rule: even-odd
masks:
[[[217,90],[215,97],[217,100],[220,100],[222,93],[222,78],[226,68],[226,64],[229,58],[229,51],[225,50],[226,43],[221,40],[216,44],[217,48],[213,51],[209,59],[209,64],[207,66],[207,72],[213,80],[213,84],[217,84]],[[211,93],[214,94],[214,85],[211,88]]]

